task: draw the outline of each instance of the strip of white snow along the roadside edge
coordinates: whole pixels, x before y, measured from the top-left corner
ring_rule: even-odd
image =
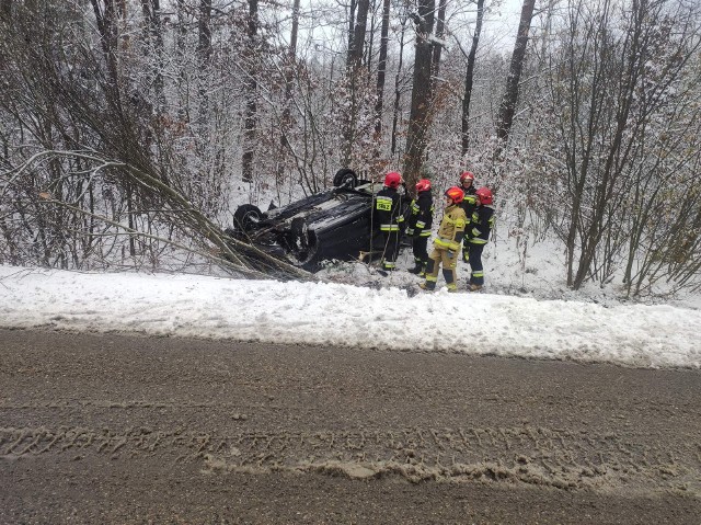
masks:
[[[374,288],[0,265],[0,328],[701,367],[698,309],[414,295],[392,278]]]

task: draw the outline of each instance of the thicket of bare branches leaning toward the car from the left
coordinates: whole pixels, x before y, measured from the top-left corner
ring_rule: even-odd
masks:
[[[114,5],[97,7],[102,16],[115,12]],[[0,101],[0,118],[26,123],[24,147],[0,166],[2,258],[60,267],[126,260],[157,266],[159,253],[175,247],[240,275],[304,278],[304,272],[230,238],[193,204],[189,174],[175,169],[180,137],[159,140],[159,148],[169,149],[154,155],[150,137],[162,129],[130,94],[128,68],[138,60],[130,64],[128,53],[104,42],[95,53],[90,33],[79,35],[90,31],[80,11],[59,7],[55,16],[39,16],[42,24],[33,9],[23,7],[11,25],[0,22],[0,55],[11,56],[3,73],[14,94]],[[120,94],[123,87],[129,95]]]

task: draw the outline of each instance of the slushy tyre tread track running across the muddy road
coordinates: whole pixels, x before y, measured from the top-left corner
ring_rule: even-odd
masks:
[[[159,455],[202,461],[209,472],[296,470],[410,481],[522,482],[560,489],[683,491],[701,495],[701,444],[675,449],[636,444],[633,435],[556,429],[457,427],[401,431],[243,432],[186,429],[2,427],[0,459],[41,454]]]

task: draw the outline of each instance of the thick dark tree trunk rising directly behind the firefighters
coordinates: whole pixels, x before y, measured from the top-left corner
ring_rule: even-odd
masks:
[[[412,87],[412,106],[409,117],[406,152],[404,157],[404,180],[412,187],[420,179],[420,172],[426,156],[426,135],[429,124],[433,89],[430,68],[433,46],[428,36],[434,28],[435,0],[420,0],[416,23],[416,55],[414,59],[414,79]]]

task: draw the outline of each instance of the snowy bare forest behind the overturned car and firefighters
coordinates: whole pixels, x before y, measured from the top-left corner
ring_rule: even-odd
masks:
[[[573,289],[700,289],[698,2],[524,0],[508,52],[499,7],[0,0],[0,263],[261,276],[220,227],[242,194],[469,169]]]

